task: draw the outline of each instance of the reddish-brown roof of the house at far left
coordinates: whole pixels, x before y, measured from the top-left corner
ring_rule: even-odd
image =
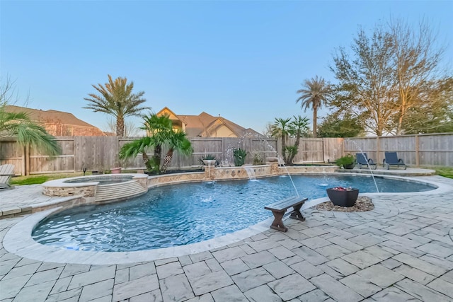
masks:
[[[30,120],[38,121],[41,123],[55,123],[59,122],[61,124],[68,124],[72,126],[79,126],[79,127],[91,127],[96,128],[92,124],[88,124],[83,120],[79,120],[75,117],[72,113],[57,111],[57,110],[39,110],[39,109],[32,109],[32,108],[25,108],[19,107],[14,105],[6,105],[5,106],[6,112],[25,112]],[[100,130],[101,131],[101,130]]]

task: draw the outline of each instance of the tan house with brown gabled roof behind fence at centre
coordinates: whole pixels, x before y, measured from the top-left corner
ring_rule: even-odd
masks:
[[[214,117],[201,112],[200,115],[176,115],[168,108],[156,115],[168,115],[173,122],[173,129],[185,132],[188,137],[263,137],[263,134],[251,128],[244,128],[226,118]]]

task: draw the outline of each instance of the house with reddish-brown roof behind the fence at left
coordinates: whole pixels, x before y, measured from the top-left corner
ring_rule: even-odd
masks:
[[[30,120],[42,125],[49,134],[55,137],[105,137],[105,133],[101,129],[79,120],[69,112],[42,111],[13,105],[6,105],[5,111],[25,112]]]

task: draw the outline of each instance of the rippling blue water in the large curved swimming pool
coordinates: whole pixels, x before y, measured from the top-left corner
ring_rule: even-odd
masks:
[[[301,196],[326,197],[327,187],[376,192],[372,178],[352,175],[292,175]],[[379,192],[415,192],[434,187],[376,178]],[[196,182],[156,187],[125,202],[67,209],[33,231],[39,243],[72,250],[133,251],[166,248],[225,235],[272,216],[267,204],[296,192],[289,177]]]

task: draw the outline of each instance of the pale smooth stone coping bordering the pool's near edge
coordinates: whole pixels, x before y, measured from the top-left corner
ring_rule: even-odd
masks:
[[[349,173],[348,173],[349,174]],[[354,173],[351,173],[354,174]],[[423,192],[403,192],[403,193],[365,193],[366,196],[419,196],[419,195],[430,195],[430,194],[442,194],[452,190],[452,187],[442,182],[436,182],[432,180],[417,179],[417,178],[406,178],[401,176],[389,176],[379,175],[384,178],[401,178],[404,180],[412,180],[415,182],[426,183],[437,186],[437,189]],[[364,195],[364,194],[361,194]],[[319,199],[312,199],[306,202],[301,210],[314,207],[316,204],[328,201],[328,197],[322,197]],[[46,211],[40,211],[30,216],[25,217],[6,233],[3,240],[4,248],[13,254],[21,257],[45,261],[45,262],[57,262],[57,263],[74,263],[84,265],[118,265],[128,264],[134,262],[144,262],[151,260],[164,259],[168,257],[180,257],[183,255],[190,255],[197,252],[205,252],[214,248],[221,248],[225,245],[231,245],[238,241],[244,240],[251,236],[268,231],[270,223],[273,219],[268,218],[264,221],[256,223],[253,226],[244,228],[241,231],[229,233],[224,236],[212,238],[199,243],[192,243],[189,245],[180,245],[171,248],[160,248],[151,250],[140,250],[130,252],[94,252],[94,251],[77,251],[67,250],[63,248],[55,248],[48,245],[42,245],[37,243],[31,237],[33,228],[47,215],[52,214],[54,211],[61,210],[62,207],[56,207],[54,209],[48,209]],[[287,215],[288,216],[288,215]],[[286,219],[287,219],[286,216]],[[17,240],[21,238],[21,240]]]

